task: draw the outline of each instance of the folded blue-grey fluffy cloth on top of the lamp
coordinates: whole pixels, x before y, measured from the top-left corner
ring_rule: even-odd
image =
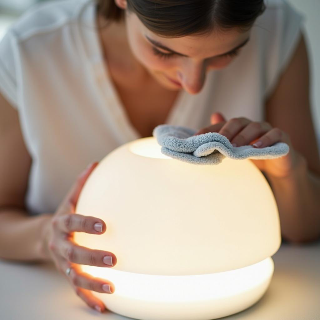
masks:
[[[289,146],[284,142],[276,142],[264,148],[251,145],[233,147],[228,138],[218,132],[193,136],[196,132],[186,127],[160,124],[153,129],[152,134],[162,146],[161,153],[193,164],[219,164],[225,157],[274,159],[289,152]]]

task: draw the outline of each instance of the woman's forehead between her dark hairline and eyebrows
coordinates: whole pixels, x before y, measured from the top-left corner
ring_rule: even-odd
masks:
[[[144,26],[136,14],[132,14],[131,18],[132,22],[136,25],[134,29],[144,39],[145,36],[148,36],[152,40],[190,57],[214,56],[228,52],[243,43],[250,36],[251,32],[251,29],[241,32],[238,28],[232,28],[225,31],[213,30],[205,35],[188,35],[172,38],[152,32]]]

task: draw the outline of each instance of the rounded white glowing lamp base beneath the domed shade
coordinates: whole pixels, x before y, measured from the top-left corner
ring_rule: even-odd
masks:
[[[248,267],[205,275],[155,276],[82,266],[111,281],[112,294],[93,292],[110,311],[142,320],[211,320],[242,311],[266,292],[271,258]]]

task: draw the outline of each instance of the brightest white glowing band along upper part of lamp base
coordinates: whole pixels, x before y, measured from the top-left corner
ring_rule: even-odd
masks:
[[[117,296],[159,302],[196,302],[254,290],[270,279],[273,266],[272,259],[267,258],[241,269],[192,276],[153,276],[113,268],[82,268],[84,272],[115,283]]]

